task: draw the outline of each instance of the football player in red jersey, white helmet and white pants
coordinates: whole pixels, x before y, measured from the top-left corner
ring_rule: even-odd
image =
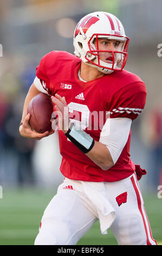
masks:
[[[76,245],[97,220],[101,233],[111,228],[119,245],[156,245],[138,184],[146,171],[129,154],[131,124],[144,109],[146,88],[124,70],[128,44],[120,20],[98,11],[77,24],[75,56],[51,51],[36,68],[20,133],[41,139],[54,132],[31,130],[27,115],[36,94],[51,95],[65,178],[44,211],[35,245]]]

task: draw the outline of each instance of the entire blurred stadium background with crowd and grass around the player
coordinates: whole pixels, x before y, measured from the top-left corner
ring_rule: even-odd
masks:
[[[153,237],[162,244],[161,0],[1,0],[0,245],[33,245],[43,211],[63,179],[57,133],[41,141],[18,133],[35,68],[51,50],[73,53],[76,23],[96,10],[119,17],[130,38],[125,69],[146,83],[145,111],[132,126],[131,159],[147,170],[139,184]],[[117,243],[111,230],[103,236],[96,223],[78,244]]]

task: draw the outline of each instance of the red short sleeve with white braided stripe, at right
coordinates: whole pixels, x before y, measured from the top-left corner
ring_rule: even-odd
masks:
[[[134,120],[145,107],[146,95],[145,83],[127,84],[113,95],[108,109],[110,118],[126,117]]]

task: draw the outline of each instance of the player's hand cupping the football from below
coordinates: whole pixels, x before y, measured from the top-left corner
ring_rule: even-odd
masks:
[[[19,127],[19,132],[21,134],[21,136],[26,137],[26,138],[33,138],[36,139],[37,141],[39,141],[40,139],[44,138],[44,137],[48,137],[49,135],[53,134],[55,131],[46,131],[44,133],[39,133],[36,132],[34,130],[31,129],[30,125],[29,125],[29,119],[30,119],[30,114],[28,114],[24,121],[23,124]]]

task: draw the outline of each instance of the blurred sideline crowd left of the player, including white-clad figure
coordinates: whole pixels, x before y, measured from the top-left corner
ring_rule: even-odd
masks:
[[[37,65],[27,56],[4,54],[0,58],[1,186],[50,187],[62,180],[57,133],[41,141],[24,138],[19,133],[24,100]]]

